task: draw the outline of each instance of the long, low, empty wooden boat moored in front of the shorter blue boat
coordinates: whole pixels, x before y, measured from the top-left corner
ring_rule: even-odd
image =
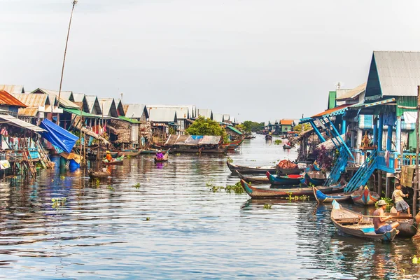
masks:
[[[244,188],[245,192],[252,198],[255,199],[262,199],[262,198],[283,198],[292,196],[300,196],[300,195],[308,195],[313,196],[314,192],[311,188],[254,188],[253,186],[246,183],[246,181],[241,179],[242,188]],[[320,188],[323,193],[337,193],[342,188],[337,187],[321,187]]]

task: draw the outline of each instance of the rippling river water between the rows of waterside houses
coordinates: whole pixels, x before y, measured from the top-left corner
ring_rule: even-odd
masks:
[[[295,151],[246,140],[226,155],[152,155],[90,182],[41,170],[0,183],[0,265],[6,279],[419,279],[420,244],[339,235],[330,205],[213,193],[238,181],[226,159],[272,165]],[[136,186],[136,184],[138,184]],[[52,198],[65,198],[54,207]],[[272,204],[265,209],[264,204]],[[351,208],[351,205],[348,206]]]

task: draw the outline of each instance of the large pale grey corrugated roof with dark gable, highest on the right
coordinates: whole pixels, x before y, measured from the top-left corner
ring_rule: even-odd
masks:
[[[377,83],[377,78],[374,78],[376,75],[369,75],[366,96],[378,95],[380,92],[382,96],[417,95],[417,85],[420,85],[420,52],[374,51],[370,72],[374,71],[373,63],[376,64],[380,89],[370,85],[371,81]]]

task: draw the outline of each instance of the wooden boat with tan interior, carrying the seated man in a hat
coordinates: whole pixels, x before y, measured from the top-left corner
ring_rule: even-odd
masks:
[[[331,220],[337,230],[353,237],[393,241],[395,235],[397,235],[397,230],[395,228],[383,235],[377,235],[374,233],[372,219],[363,217],[362,214],[358,214],[349,209],[345,209],[336,201],[332,202]]]

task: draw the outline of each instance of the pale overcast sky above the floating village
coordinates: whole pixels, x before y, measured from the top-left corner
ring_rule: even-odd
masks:
[[[71,0],[0,0],[0,83],[58,90]],[[239,120],[323,111],[373,50],[420,50],[420,1],[79,0],[63,90]]]

